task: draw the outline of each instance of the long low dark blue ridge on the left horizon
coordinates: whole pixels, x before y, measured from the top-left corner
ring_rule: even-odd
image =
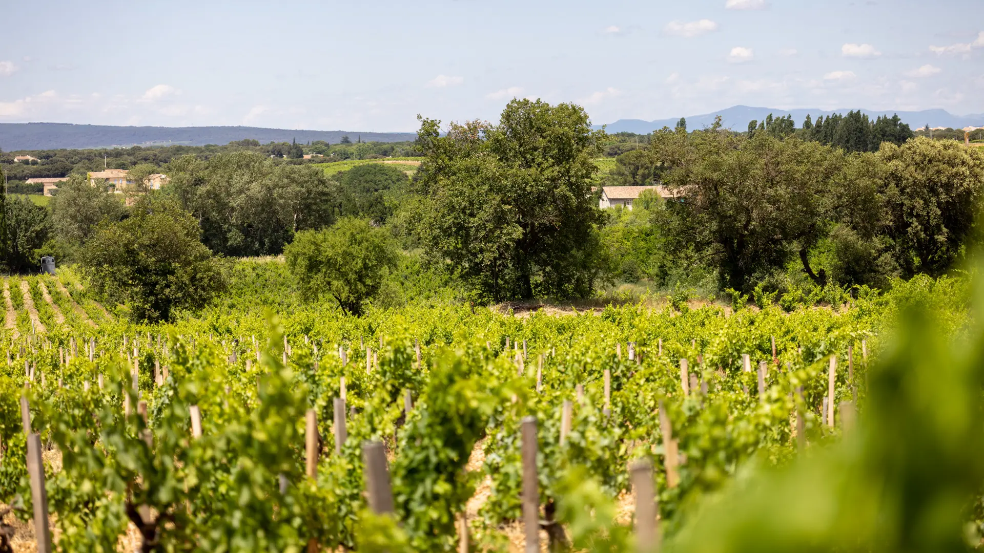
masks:
[[[260,127],[113,127],[70,123],[0,123],[0,150],[60,150],[131,146],[225,145],[235,140],[308,143],[323,140],[352,142],[400,142],[414,140],[415,133],[365,133],[358,131],[291,131]]]

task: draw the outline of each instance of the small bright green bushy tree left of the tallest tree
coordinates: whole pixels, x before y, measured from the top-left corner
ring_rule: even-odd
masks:
[[[368,220],[342,217],[324,230],[304,230],[283,255],[301,295],[315,300],[330,295],[351,315],[376,295],[389,270],[397,265],[397,250],[383,228]]]

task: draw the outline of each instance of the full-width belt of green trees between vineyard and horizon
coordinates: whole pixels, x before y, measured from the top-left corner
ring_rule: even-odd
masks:
[[[103,250],[109,237],[163,236],[168,225],[204,248],[175,248],[188,263],[205,263],[203,251],[287,250],[301,280],[324,284],[306,294],[330,293],[352,313],[390,293],[391,271],[414,264],[417,275],[497,302],[584,297],[641,279],[710,293],[886,287],[894,277],[951,270],[965,255],[984,189],[984,151],[911,135],[897,117],[872,122],[851,112],[807,119],[799,129],[790,117],[768,117],[741,133],[719,123],[688,131],[681,120],[639,140],[592,130],[577,105],[514,100],[497,123],[452,123],[443,133],[439,121],[421,119],[412,149],[422,163],[412,178],[406,165],[384,163],[327,175],[246,140],[156,165],[135,157],[139,181],[157,170],[170,175],[160,191],[105,194],[76,174],[50,211],[8,198],[0,228],[11,271],[35,270],[44,254],[92,267],[130,256],[167,259],[150,242],[144,250]],[[326,147],[371,146],[349,142]],[[632,148],[599,174],[594,159],[618,145]],[[301,148],[283,146],[287,155]],[[602,211],[599,184],[660,184],[669,197],[647,192],[631,213]],[[150,216],[154,206],[170,222]],[[303,239],[289,248],[295,237]],[[359,244],[383,257],[355,255]],[[198,305],[206,295],[174,305]],[[128,301],[143,318],[166,318],[172,309]]]

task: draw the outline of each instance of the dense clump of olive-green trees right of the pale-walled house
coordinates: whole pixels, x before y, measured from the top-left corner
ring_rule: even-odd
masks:
[[[984,153],[921,138],[851,153],[768,132],[664,130],[644,154],[674,197],[621,216],[607,242],[649,243],[657,255],[621,248],[615,270],[664,283],[688,268],[744,291],[789,275],[818,287],[939,276],[962,258],[984,190]]]

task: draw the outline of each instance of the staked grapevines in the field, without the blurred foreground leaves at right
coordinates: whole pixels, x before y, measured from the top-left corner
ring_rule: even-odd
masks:
[[[748,461],[835,439],[864,409],[897,304],[352,318],[290,303],[263,315],[242,296],[153,327],[69,305],[44,333],[18,324],[0,338],[0,499],[31,518],[24,397],[59,550],[116,550],[128,526],[147,551],[451,551],[465,533],[505,550],[533,417],[546,540],[629,550],[615,505],[630,464],[652,466],[659,532],[672,534]],[[368,509],[367,443],[385,447],[393,517]],[[465,470],[478,451],[482,468]],[[465,520],[480,484],[488,497]]]

